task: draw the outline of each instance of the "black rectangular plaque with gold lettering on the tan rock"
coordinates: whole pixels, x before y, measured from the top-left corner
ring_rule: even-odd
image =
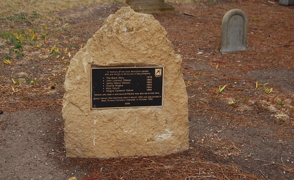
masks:
[[[163,67],[91,68],[91,109],[161,107]]]

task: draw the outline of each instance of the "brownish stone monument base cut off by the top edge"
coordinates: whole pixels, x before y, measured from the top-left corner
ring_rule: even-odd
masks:
[[[125,4],[120,4],[116,9],[130,6],[134,11],[146,14],[174,14],[175,8],[164,0],[126,0]]]

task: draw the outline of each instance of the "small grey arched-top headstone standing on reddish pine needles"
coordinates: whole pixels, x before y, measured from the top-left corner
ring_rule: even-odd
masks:
[[[223,17],[220,51],[231,53],[247,49],[248,19],[240,9],[232,9]]]

